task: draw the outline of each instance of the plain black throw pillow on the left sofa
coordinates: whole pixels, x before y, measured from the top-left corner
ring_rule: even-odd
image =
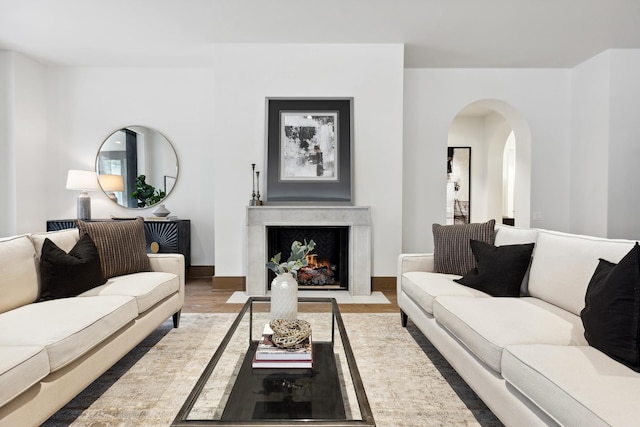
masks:
[[[106,282],[98,249],[85,234],[66,253],[49,239],[40,256],[40,301],[79,295]]]

